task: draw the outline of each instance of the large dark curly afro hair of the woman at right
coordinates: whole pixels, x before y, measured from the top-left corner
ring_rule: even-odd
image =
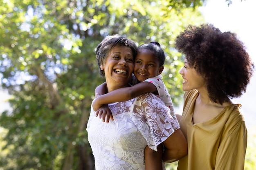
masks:
[[[212,102],[222,104],[246,92],[255,66],[235,33],[208,23],[189,25],[175,39],[175,47],[204,77]]]

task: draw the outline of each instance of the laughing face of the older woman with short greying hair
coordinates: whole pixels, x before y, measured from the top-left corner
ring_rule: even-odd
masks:
[[[108,92],[128,86],[133,68],[132,50],[127,46],[113,47],[106,62],[101,64],[101,70],[105,72]]]

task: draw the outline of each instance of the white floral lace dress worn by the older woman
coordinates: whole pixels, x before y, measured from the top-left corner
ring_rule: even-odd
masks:
[[[96,170],[145,170],[145,147],[157,150],[180,128],[170,109],[152,93],[109,104],[109,108],[114,121],[103,123],[91,109],[87,124]]]

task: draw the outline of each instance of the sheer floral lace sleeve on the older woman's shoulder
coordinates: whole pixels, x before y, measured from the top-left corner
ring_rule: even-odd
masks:
[[[170,109],[152,93],[145,93],[136,98],[132,121],[146,139],[148,146],[155,151],[157,145],[179,128],[171,117]]]

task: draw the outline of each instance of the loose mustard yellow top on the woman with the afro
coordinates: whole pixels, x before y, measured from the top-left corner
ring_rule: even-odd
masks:
[[[180,129],[188,142],[188,155],[179,160],[177,170],[243,170],[247,129],[240,104],[225,107],[219,115],[193,124],[196,89],[184,93]]]

